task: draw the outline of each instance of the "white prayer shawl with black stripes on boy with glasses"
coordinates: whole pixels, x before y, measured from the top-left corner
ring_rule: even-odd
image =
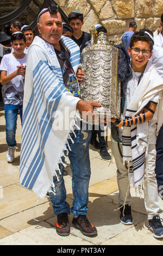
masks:
[[[148,60],[143,77],[137,86],[133,97],[127,106],[126,118],[142,112],[142,109],[153,97],[162,94],[163,79],[159,76],[155,66]],[[162,99],[159,103],[158,119],[163,120]],[[146,159],[148,156],[149,130],[148,121],[142,124],[123,128],[123,162],[132,162],[129,169],[130,187],[142,187],[143,176],[146,172]],[[153,142],[155,143],[155,142]]]

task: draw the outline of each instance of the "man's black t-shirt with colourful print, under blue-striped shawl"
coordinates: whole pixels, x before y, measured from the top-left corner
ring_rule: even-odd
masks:
[[[79,95],[78,82],[77,82],[77,78],[75,77],[72,65],[70,63],[69,53],[65,50],[65,48],[62,45],[61,45],[61,51],[58,51],[55,48],[54,48],[54,50],[57,55],[60,67],[61,67],[65,87],[68,90],[70,90],[70,92],[74,96],[78,96]]]

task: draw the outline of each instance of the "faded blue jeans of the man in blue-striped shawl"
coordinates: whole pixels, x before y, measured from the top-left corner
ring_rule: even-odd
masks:
[[[72,170],[73,206],[72,209],[70,209],[70,205],[66,202],[66,189],[63,179],[64,167],[60,164],[60,181],[58,182],[56,177],[53,178],[56,195],[54,196],[52,192],[49,193],[55,215],[59,215],[61,212],[70,214],[71,211],[75,217],[78,217],[78,215],[86,215],[87,212],[88,190],[91,176],[89,158],[91,131],[76,130],[74,132],[76,133],[77,138],[75,138],[73,133],[70,133],[74,144],[68,139],[71,148],[68,157],[70,159]],[[62,161],[63,160],[64,157],[62,157]]]

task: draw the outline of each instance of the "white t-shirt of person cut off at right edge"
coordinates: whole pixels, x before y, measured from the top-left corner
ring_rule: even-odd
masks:
[[[163,77],[163,36],[161,32],[154,38],[152,64],[155,65],[159,75]]]

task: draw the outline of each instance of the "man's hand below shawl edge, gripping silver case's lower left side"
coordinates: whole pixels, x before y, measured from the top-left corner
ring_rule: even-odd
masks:
[[[93,112],[93,107],[101,107],[101,103],[95,101],[84,101],[79,100],[77,103],[77,109],[84,118],[95,118],[95,113]]]

